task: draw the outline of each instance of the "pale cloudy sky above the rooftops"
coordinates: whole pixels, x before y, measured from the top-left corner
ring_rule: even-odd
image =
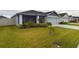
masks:
[[[16,13],[22,12],[25,10],[0,10],[0,15],[6,16],[8,18],[12,17]],[[39,10],[43,12],[48,12],[48,10]],[[49,10],[52,11],[52,10]],[[68,13],[72,16],[79,16],[79,10],[56,10],[57,13]]]

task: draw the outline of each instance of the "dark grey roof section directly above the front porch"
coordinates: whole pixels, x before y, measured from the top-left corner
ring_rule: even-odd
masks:
[[[35,11],[35,10],[24,11],[17,14],[45,16],[45,13],[40,12],[40,11]]]

